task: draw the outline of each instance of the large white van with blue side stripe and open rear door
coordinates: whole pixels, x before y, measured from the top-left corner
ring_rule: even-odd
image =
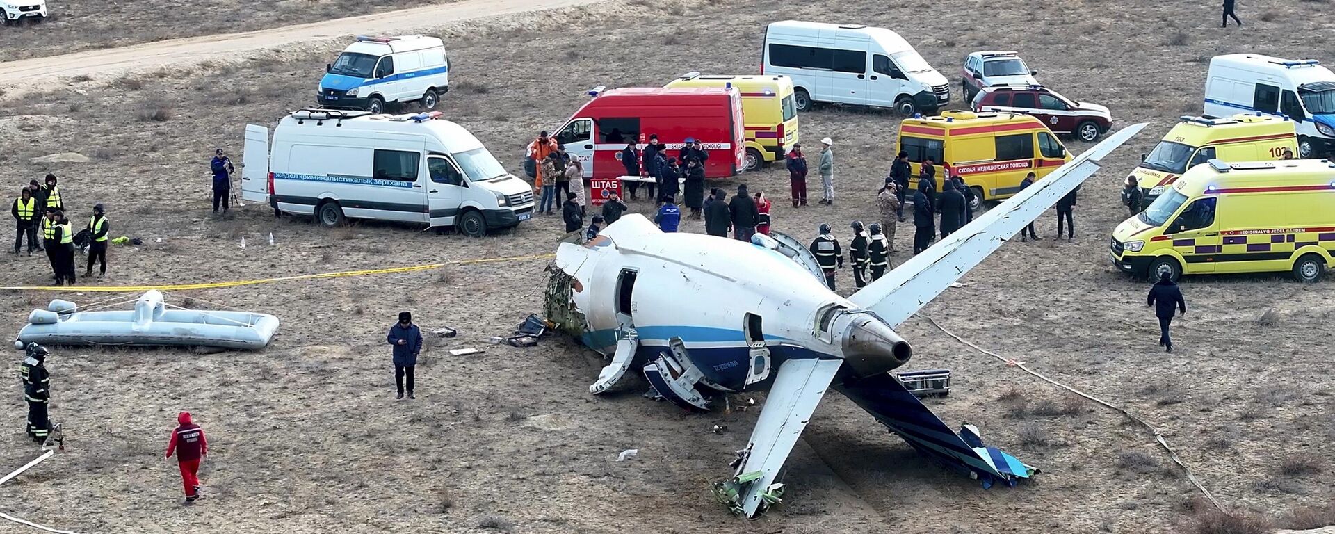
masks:
[[[314,215],[454,226],[469,236],[533,218],[533,187],[441,112],[302,109],[274,128],[246,125],[242,198]]]

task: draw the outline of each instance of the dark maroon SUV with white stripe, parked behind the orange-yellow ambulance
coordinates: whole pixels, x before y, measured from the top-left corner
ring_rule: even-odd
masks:
[[[1108,108],[1068,100],[1043,85],[985,87],[973,97],[973,111],[1001,111],[1039,117],[1055,134],[1071,134],[1092,142],[1112,129]]]

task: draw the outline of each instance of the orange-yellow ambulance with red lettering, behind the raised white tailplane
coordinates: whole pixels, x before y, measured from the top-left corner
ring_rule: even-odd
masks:
[[[1057,136],[1031,115],[945,111],[940,116],[904,119],[898,152],[908,152],[917,183],[922,162],[936,162],[936,186],[941,191],[948,167],[964,178],[979,204],[1020,192],[1029,172],[1039,178],[1071,160]],[[975,206],[977,208],[979,206]]]

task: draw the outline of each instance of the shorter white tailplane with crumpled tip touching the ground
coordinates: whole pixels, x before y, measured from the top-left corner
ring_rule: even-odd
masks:
[[[745,483],[745,490],[740,491],[741,502],[733,505],[740,505],[746,517],[761,511],[769,486],[842,364],[837,359],[790,359],[778,367],[778,376],[746,446],[749,455],[733,481]]]

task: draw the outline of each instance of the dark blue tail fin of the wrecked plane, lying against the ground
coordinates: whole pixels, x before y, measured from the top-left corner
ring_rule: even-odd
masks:
[[[960,434],[956,434],[888,372],[865,379],[849,378],[836,382],[834,388],[874,415],[920,454],[979,479],[983,487],[992,487],[997,482],[1015,486],[1039,473],[1015,457],[983,445],[979,430],[972,425],[964,425]]]

